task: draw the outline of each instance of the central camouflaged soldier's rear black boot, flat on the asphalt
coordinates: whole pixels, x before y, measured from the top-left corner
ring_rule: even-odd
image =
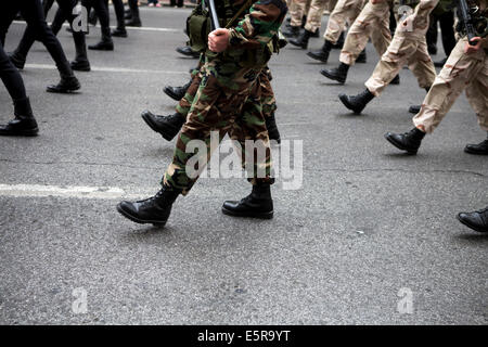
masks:
[[[251,194],[240,202],[227,201],[223,203],[222,213],[234,217],[253,217],[261,219],[273,218],[273,201],[271,198],[271,185],[259,183],[253,185]]]

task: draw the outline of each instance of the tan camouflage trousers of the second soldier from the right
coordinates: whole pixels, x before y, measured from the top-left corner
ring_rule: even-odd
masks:
[[[378,97],[406,64],[421,88],[428,89],[434,83],[436,69],[427,52],[425,33],[431,12],[438,2],[439,0],[421,0],[413,14],[398,23],[391,43],[364,83],[372,94]]]

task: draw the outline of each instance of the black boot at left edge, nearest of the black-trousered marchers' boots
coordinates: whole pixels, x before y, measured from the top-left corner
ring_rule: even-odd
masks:
[[[0,136],[4,137],[35,137],[39,132],[36,118],[30,108],[29,99],[14,100],[15,118],[4,126],[0,126]]]

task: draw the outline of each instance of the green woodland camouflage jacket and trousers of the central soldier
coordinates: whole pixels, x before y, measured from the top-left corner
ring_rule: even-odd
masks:
[[[244,1],[235,1],[235,11]],[[271,157],[268,130],[261,107],[261,85],[257,77],[270,55],[266,54],[267,43],[278,34],[286,14],[285,0],[254,1],[245,17],[230,30],[230,47],[220,54],[206,52],[202,67],[202,81],[190,107],[187,121],[181,129],[175,149],[172,163],[166,170],[163,184],[182,190],[187,194],[195,183],[195,177],[187,175],[187,163],[198,153],[187,153],[192,140],[202,140],[207,145],[209,159],[210,131],[218,131],[219,140],[229,134],[245,149],[245,141],[262,143],[266,158],[254,160],[254,172],[249,178],[253,184],[272,183]],[[264,56],[252,64],[252,59]],[[260,141],[259,141],[260,140]],[[243,167],[246,153],[242,153]],[[198,167],[202,171],[204,167]],[[257,172],[265,172],[264,177]]]

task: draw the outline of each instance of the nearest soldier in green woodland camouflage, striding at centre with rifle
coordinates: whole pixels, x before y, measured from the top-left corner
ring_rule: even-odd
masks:
[[[254,152],[242,153],[243,166],[252,165],[249,181],[252,193],[240,202],[226,202],[222,211],[232,216],[272,218],[273,204],[270,184],[271,158],[268,131],[266,129],[260,103],[260,83],[257,77],[268,63],[271,52],[268,43],[278,35],[286,14],[285,0],[229,1],[233,14],[243,5],[251,4],[237,25],[230,29],[220,28],[208,36],[205,65],[202,68],[202,82],[193,100],[187,121],[178,137],[172,163],[166,170],[162,190],[153,197],[140,202],[121,202],[118,211],[139,223],[166,224],[171,206],[180,194],[188,194],[197,176],[188,172],[191,159],[198,159],[201,172],[211,155],[210,151],[190,151],[192,140],[200,140],[210,146],[211,131],[218,132],[221,140],[226,134],[237,141],[243,149],[246,140],[260,143],[266,150],[264,159],[247,160]],[[222,5],[219,3],[219,5]],[[220,8],[221,9],[221,8]],[[229,9],[227,9],[229,10]],[[227,13],[218,12],[219,18]],[[189,151],[188,151],[189,150]],[[208,149],[207,149],[208,150]],[[258,151],[259,152],[259,151]],[[189,176],[190,175],[190,176]]]

